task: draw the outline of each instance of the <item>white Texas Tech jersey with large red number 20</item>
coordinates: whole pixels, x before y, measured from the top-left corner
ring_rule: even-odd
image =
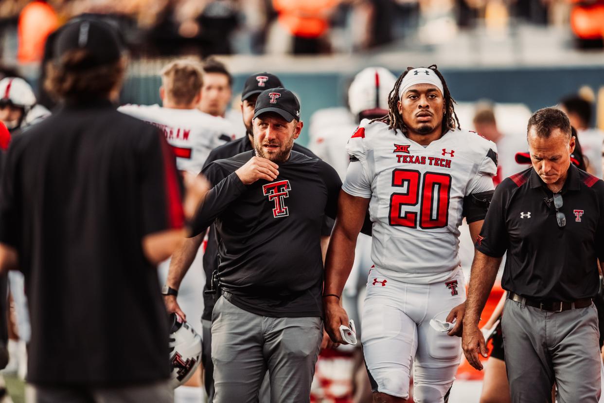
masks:
[[[342,189],[371,199],[376,269],[410,283],[450,277],[460,265],[464,196],[494,189],[495,143],[457,130],[423,147],[384,123],[363,120],[347,151],[353,162]]]

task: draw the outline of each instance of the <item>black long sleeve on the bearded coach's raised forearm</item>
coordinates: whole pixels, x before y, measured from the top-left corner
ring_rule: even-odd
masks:
[[[217,216],[247,189],[234,172],[223,178],[223,170],[216,164],[211,164],[202,173],[210,183],[218,183],[205,195],[199,210],[191,220],[191,236],[197,236],[210,227]]]

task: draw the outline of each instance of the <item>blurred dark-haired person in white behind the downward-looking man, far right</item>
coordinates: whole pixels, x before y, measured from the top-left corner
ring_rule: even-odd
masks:
[[[593,105],[588,100],[571,95],[560,101],[562,111],[568,115],[571,126],[577,130],[583,154],[587,157],[587,172],[602,179],[602,144],[604,132],[591,127]]]

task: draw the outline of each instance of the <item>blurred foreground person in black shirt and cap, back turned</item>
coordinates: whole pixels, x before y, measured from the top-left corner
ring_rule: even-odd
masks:
[[[28,401],[172,402],[156,265],[207,187],[190,181],[182,204],[162,132],[116,111],[111,26],[74,22],[55,47],[44,84],[62,107],[11,141],[0,184],[0,268],[24,273],[30,303]]]

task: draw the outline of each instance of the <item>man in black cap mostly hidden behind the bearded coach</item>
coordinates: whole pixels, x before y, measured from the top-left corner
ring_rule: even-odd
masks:
[[[241,111],[243,115],[243,124],[246,127],[246,136],[241,137],[237,140],[231,141],[230,143],[223,144],[220,147],[210,152],[207,160],[204,164],[204,169],[209,164],[216,160],[222,160],[225,158],[231,158],[242,152],[251,151],[254,149],[254,131],[252,130],[252,118],[254,117],[254,108],[256,106],[256,100],[262,91],[267,88],[283,87],[281,80],[271,73],[257,73],[252,74],[245,80],[243,86],[243,92],[241,96],[242,106]],[[300,144],[294,143],[292,150],[302,153],[310,158],[318,158],[306,147],[300,146]],[[333,226],[333,220],[326,218],[326,222],[321,230],[321,245],[324,250],[327,249],[327,243],[329,243],[329,235]],[[179,315],[185,315],[185,312],[181,311],[181,308],[176,302],[176,295],[174,292],[179,289],[181,281],[184,278],[188,268],[193,263],[196,253],[204,240],[205,233],[200,233],[198,236],[193,237],[185,241],[182,247],[175,252],[172,262],[170,264],[170,274],[168,276],[166,285],[175,291],[172,295],[165,296],[165,303],[169,312],[178,312]],[[220,293],[216,290],[216,285],[213,285],[213,273],[218,269],[218,242],[216,239],[216,231],[214,226],[210,227],[208,234],[207,247],[204,253],[204,272],[206,276],[206,284],[204,287],[204,313],[201,317],[203,332],[203,344],[204,352],[202,354],[202,363],[204,364],[204,384],[205,390],[208,394],[209,403],[213,401],[214,396],[214,366],[211,360],[211,320],[212,311],[214,304]],[[199,320],[199,318],[191,318],[191,320]],[[327,340],[327,338],[326,338]],[[270,401],[268,392],[264,387],[260,390],[260,401]]]

